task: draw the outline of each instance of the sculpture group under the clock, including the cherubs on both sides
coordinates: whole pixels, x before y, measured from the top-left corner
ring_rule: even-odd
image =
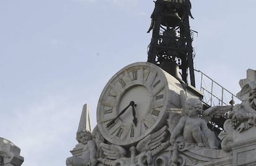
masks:
[[[77,141],[84,144],[83,153],[69,157],[67,166],[197,165],[228,157],[229,154],[220,149],[213,131],[208,129],[206,120],[224,114],[231,107],[211,107],[199,117],[203,111],[200,100],[187,99],[184,91],[181,91],[180,103],[182,108],[177,109],[177,113],[170,113],[168,126],[164,125],[134,146],[108,143],[98,127],[95,127],[92,135],[85,130],[78,132]]]

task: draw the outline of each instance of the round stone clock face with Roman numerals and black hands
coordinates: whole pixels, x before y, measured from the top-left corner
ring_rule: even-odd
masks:
[[[103,89],[97,107],[98,128],[110,143],[134,144],[165,121],[167,104],[168,81],[163,70],[148,62],[130,64]]]

